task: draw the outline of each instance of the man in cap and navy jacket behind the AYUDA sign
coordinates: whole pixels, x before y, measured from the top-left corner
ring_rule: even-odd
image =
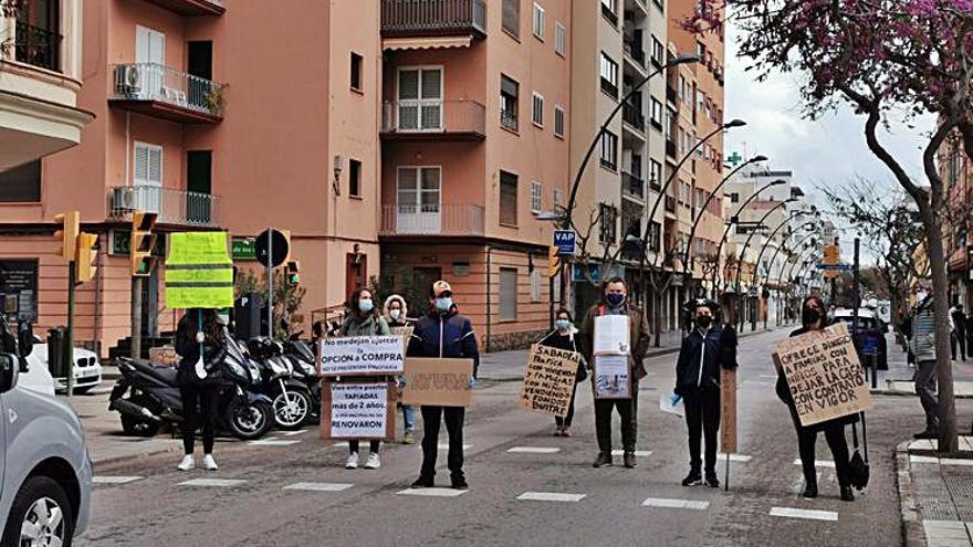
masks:
[[[480,368],[480,350],[470,319],[456,313],[452,302],[452,287],[444,281],[437,281],[429,288],[429,313],[416,322],[409,340],[408,357],[461,358],[473,360],[473,378]],[[423,404],[422,412],[422,466],[414,488],[430,488],[436,476],[436,457],[439,451],[439,425],[446,422],[449,434],[450,484],[457,490],[467,490],[463,472],[463,407],[431,407]]]

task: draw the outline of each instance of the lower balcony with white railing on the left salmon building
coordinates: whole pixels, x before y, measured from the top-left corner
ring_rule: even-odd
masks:
[[[160,224],[213,228],[219,225],[220,198],[158,186],[117,186],[108,189],[114,220],[128,220],[135,210],[158,214]]]

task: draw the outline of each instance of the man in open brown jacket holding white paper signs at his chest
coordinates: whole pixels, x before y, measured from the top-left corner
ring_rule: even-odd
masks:
[[[616,322],[616,317],[625,317],[628,320]],[[608,319],[603,323],[613,330],[597,328],[598,319]],[[619,323],[622,325],[622,332],[617,330]],[[642,361],[649,348],[649,324],[642,311],[628,302],[628,287],[625,280],[613,277],[605,283],[601,302],[588,309],[580,333],[584,340],[582,354],[585,360],[595,366],[595,432],[598,436],[598,456],[593,465],[604,467],[613,464],[611,411],[617,409],[621,419],[621,448],[625,452],[625,466],[635,467],[635,443],[638,434],[638,382],[647,375]],[[607,340],[605,337],[608,337]],[[607,353],[608,350],[611,353]],[[610,377],[624,378],[624,386],[611,385],[610,380],[606,380],[607,386],[599,383],[601,382],[598,374],[599,357],[613,366],[621,366],[622,370],[614,370]],[[625,361],[627,361],[627,367]],[[606,375],[601,376],[609,378]],[[599,398],[599,393],[608,391],[620,396]]]

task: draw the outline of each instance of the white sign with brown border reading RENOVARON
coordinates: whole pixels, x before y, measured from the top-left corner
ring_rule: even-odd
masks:
[[[395,407],[393,382],[326,382],[321,390],[321,438],[391,440]]]

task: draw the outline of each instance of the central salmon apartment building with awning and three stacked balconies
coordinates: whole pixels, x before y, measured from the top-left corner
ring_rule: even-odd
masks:
[[[481,346],[522,347],[559,295],[542,213],[566,202],[574,13],[563,0],[380,4],[383,274],[399,290],[447,280]]]

